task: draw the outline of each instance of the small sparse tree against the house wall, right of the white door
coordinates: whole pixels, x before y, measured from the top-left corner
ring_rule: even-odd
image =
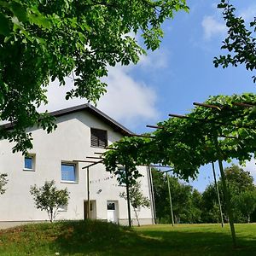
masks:
[[[129,188],[130,194],[130,203],[133,211],[135,212],[135,216],[137,218],[137,224],[140,226],[140,222],[138,220],[138,211],[140,207],[150,207],[150,201],[148,200],[147,196],[143,195],[143,191],[141,189],[142,184],[140,182],[136,182],[131,185]],[[121,198],[127,200],[127,195],[125,192],[119,194]]]

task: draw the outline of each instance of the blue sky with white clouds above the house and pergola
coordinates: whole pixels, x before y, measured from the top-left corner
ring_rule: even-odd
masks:
[[[218,2],[191,0],[187,3],[189,14],[179,12],[173,20],[165,22],[165,37],[160,49],[142,56],[136,66],[109,69],[105,79],[108,93],[97,107],[132,131],[152,131],[146,125],[168,118],[168,113],[189,113],[193,102],[204,102],[208,96],[256,90],[251,79],[253,73],[244,67],[223,69],[212,64],[214,56],[224,54],[220,47],[226,34],[224,20],[217,9]],[[238,15],[253,20],[255,0],[230,3],[234,3]],[[142,44],[140,38],[137,40]],[[68,79],[67,84],[72,86]],[[57,91],[55,88],[50,85],[49,110],[84,102],[65,102],[65,89]],[[254,163],[248,164],[247,170],[256,178]],[[202,191],[210,182],[211,168],[204,166],[198,181],[191,184]]]

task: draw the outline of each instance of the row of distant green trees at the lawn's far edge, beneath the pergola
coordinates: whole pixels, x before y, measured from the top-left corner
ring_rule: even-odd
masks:
[[[256,222],[256,186],[249,172],[232,165],[225,168],[225,176],[236,223]],[[155,211],[158,223],[172,223],[166,174],[152,169]],[[215,184],[210,183],[200,193],[191,185],[169,176],[172,209],[175,223],[220,223],[218,196]],[[218,190],[224,222],[228,222],[221,178]]]

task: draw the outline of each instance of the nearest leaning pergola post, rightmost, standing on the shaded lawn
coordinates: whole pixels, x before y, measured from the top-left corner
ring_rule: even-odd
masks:
[[[226,177],[224,174],[224,168],[223,168],[223,164],[222,164],[222,153],[221,153],[221,149],[218,145],[218,136],[214,137],[214,142],[215,142],[215,146],[218,152],[218,166],[219,166],[219,171],[221,174],[221,181],[222,181],[222,185],[223,185],[223,192],[224,192],[224,199],[226,201],[226,206],[227,206],[227,212],[228,212],[228,216],[229,216],[229,221],[230,221],[230,230],[231,230],[231,234],[232,234],[232,240],[233,240],[233,245],[234,247],[236,247],[236,230],[235,230],[235,225],[234,225],[234,217],[233,217],[233,212],[231,209],[231,204],[230,204],[230,194],[227,188],[227,183],[226,183]]]

